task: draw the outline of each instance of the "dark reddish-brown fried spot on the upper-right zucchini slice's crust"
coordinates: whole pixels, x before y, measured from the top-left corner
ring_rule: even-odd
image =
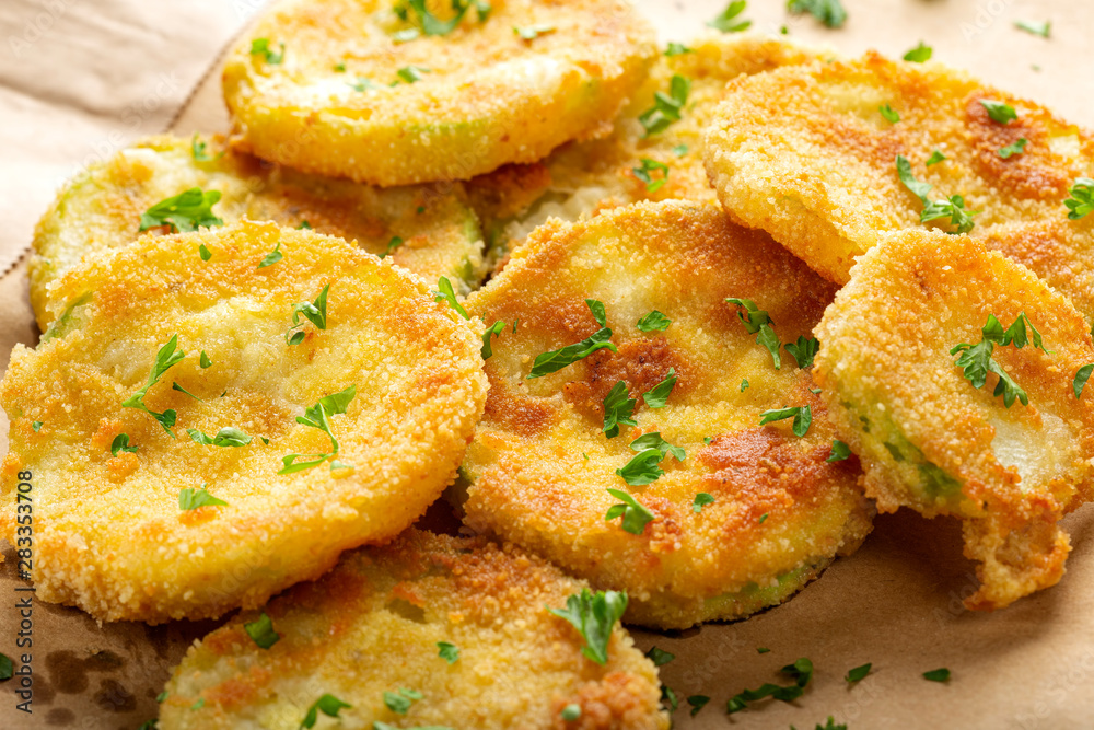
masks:
[[[1067,171],[1049,166],[1051,154],[1045,131],[1019,116],[1009,124],[993,121],[980,102],[989,99],[977,91],[965,103],[965,117],[973,164],[977,173],[1004,192],[1022,198],[1054,200],[1064,197]],[[1004,160],[999,150],[1021,138],[1028,140],[1027,151]]]

